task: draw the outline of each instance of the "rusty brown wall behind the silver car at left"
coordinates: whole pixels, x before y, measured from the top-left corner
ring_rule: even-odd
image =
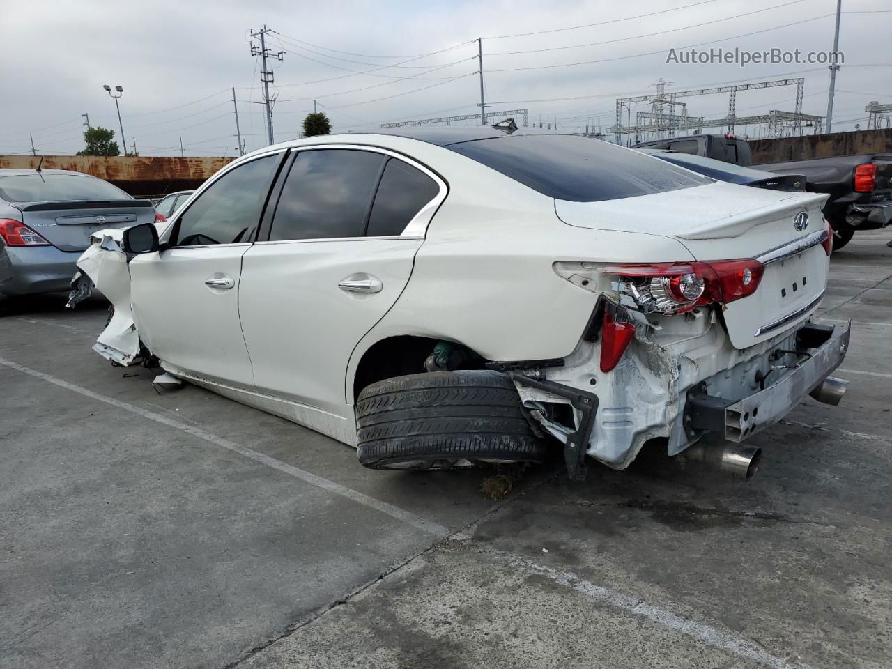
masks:
[[[135,197],[191,190],[201,186],[234,158],[172,156],[0,156],[0,168],[34,169],[43,158],[45,169],[85,172],[118,186]]]

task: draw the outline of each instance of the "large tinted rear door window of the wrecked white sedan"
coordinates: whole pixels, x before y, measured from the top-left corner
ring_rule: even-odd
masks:
[[[297,154],[273,217],[270,241],[359,237],[384,156],[351,149]]]

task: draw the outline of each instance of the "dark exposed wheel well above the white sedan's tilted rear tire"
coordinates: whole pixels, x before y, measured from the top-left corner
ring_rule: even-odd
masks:
[[[353,376],[353,401],[357,400],[363,388],[376,381],[429,371],[425,368],[425,360],[440,343],[443,341],[434,337],[399,335],[373,344],[359,360],[356,375]],[[449,356],[450,365],[446,368],[485,368],[486,360],[467,346],[449,343],[449,347],[452,352]]]

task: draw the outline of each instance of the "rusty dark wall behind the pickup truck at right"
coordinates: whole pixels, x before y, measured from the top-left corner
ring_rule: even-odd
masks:
[[[751,139],[753,163],[801,161],[857,153],[892,153],[892,128],[834,132],[830,135]]]

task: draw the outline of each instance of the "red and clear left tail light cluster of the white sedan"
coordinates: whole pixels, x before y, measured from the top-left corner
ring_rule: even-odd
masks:
[[[622,265],[604,271],[618,277],[617,288],[631,294],[645,313],[677,314],[756,293],[765,268],[758,260],[741,259]]]

